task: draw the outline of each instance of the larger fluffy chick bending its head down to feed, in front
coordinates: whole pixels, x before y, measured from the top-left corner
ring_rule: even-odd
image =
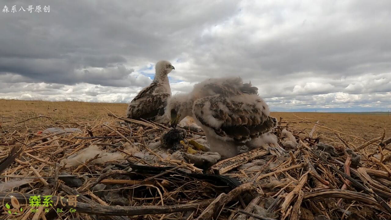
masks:
[[[253,147],[258,137],[277,125],[258,88],[240,77],[207,79],[194,85],[190,94],[173,96],[169,105],[171,124],[193,117],[205,131],[210,151],[222,159],[238,155],[239,145]]]

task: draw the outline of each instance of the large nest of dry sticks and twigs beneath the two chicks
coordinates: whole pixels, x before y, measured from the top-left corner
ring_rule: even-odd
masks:
[[[280,145],[289,141],[283,155],[258,148],[201,170],[146,147],[161,140],[167,126],[109,116],[95,124],[2,124],[0,199],[10,203],[13,195],[21,206],[32,195],[53,201],[48,211],[26,206],[13,218],[390,219],[391,139],[385,133],[366,141],[308,119],[280,118],[273,132]],[[302,123],[314,127],[302,129]],[[51,126],[80,132],[40,133]],[[319,127],[335,136],[322,137]],[[295,140],[285,140],[287,132]],[[184,135],[174,134],[170,144],[204,133]],[[77,203],[69,204],[74,195]]]

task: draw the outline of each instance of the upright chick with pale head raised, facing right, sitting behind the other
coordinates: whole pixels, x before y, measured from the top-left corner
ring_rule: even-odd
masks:
[[[157,123],[169,120],[166,110],[171,96],[170,83],[167,74],[175,69],[169,61],[156,63],[155,78],[152,83],[143,88],[127,107],[127,117],[130,119],[145,119]]]

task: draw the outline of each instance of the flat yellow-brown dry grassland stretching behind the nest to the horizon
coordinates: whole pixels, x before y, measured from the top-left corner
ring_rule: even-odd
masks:
[[[19,101],[0,99],[0,123],[8,121],[13,116],[21,121],[38,115],[51,117],[55,121],[88,121],[94,122],[107,116],[107,108],[116,115],[124,115],[127,104],[122,103],[83,103],[83,102],[47,102]],[[324,124],[326,127],[366,140],[378,137],[386,129],[386,136],[391,136],[391,117],[388,115],[344,114],[344,113],[315,113],[315,112],[273,112],[277,119],[309,118],[309,121]],[[37,119],[47,120],[47,119]],[[312,128],[313,124],[300,124],[303,128]],[[320,129],[324,135],[334,135],[329,130]]]

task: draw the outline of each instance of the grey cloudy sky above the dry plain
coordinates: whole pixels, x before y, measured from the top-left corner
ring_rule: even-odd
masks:
[[[151,82],[154,64],[169,60],[173,94],[210,77],[241,76],[272,111],[391,108],[389,0],[5,5],[0,98],[126,103]]]

